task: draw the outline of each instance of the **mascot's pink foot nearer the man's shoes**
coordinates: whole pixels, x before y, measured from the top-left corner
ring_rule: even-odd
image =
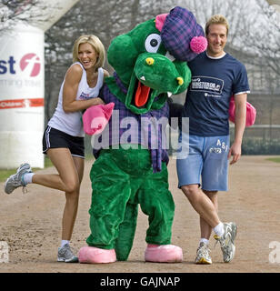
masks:
[[[175,263],[183,261],[183,251],[174,245],[148,245],[145,249],[145,261],[155,263]]]

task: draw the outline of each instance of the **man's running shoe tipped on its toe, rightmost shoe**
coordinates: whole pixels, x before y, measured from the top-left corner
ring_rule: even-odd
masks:
[[[235,237],[237,226],[234,222],[224,224],[225,233],[223,236],[214,236],[215,240],[220,243],[223,252],[224,262],[230,262],[235,256]]]

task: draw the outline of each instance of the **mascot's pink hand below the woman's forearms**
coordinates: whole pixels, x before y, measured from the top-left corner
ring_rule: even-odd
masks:
[[[97,135],[104,130],[112,115],[114,105],[111,102],[106,105],[94,105],[85,110],[83,124],[86,135]]]

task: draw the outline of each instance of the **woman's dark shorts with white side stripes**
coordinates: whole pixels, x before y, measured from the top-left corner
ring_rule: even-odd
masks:
[[[43,154],[46,154],[49,148],[58,147],[69,148],[72,156],[85,158],[84,137],[68,135],[47,125],[43,135]]]

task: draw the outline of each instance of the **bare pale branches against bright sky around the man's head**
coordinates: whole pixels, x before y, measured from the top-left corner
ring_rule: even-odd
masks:
[[[273,7],[265,0],[189,0],[179,5],[193,11],[203,26],[211,15],[225,15],[230,26],[225,50],[266,75],[275,94],[280,79],[280,14]]]

